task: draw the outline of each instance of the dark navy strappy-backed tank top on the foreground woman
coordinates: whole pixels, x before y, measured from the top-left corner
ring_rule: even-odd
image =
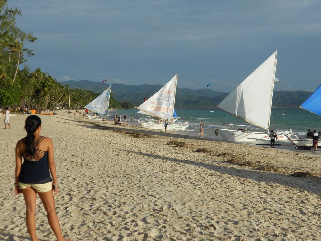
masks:
[[[40,136],[33,144],[33,156],[26,156],[25,152],[22,153],[23,163],[19,175],[19,182],[28,184],[44,184],[52,181],[49,173],[48,165],[48,151],[42,151],[36,146],[45,137]],[[24,142],[24,140],[22,139]]]

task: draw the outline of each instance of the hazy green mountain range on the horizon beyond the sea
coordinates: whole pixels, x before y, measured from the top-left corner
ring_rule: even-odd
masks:
[[[79,88],[90,90],[95,93],[104,92],[110,85],[89,80],[69,80],[60,82],[62,85],[68,85],[69,88]],[[130,102],[134,106],[143,103],[155,94],[163,85],[124,85],[111,84],[111,92],[117,101]],[[187,88],[177,88],[175,107],[215,107],[229,93],[214,91],[210,88],[191,90]],[[274,91],[273,106],[299,106],[312,92],[308,91]],[[254,100],[255,101],[255,100]]]

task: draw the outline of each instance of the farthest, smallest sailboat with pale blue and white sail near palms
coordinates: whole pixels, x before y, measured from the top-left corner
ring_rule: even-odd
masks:
[[[107,117],[110,92],[111,92],[111,89],[109,86],[96,99],[94,99],[91,103],[83,107],[93,112],[92,115],[86,114],[89,119],[101,120],[102,118]]]

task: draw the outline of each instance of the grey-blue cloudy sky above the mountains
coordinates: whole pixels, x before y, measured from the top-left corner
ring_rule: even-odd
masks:
[[[321,82],[321,1],[9,0],[38,38],[26,64],[57,81],[230,92],[278,49],[274,90]]]

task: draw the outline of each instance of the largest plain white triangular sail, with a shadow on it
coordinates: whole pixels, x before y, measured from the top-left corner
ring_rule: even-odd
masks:
[[[275,51],[217,107],[268,130],[276,67]]]

